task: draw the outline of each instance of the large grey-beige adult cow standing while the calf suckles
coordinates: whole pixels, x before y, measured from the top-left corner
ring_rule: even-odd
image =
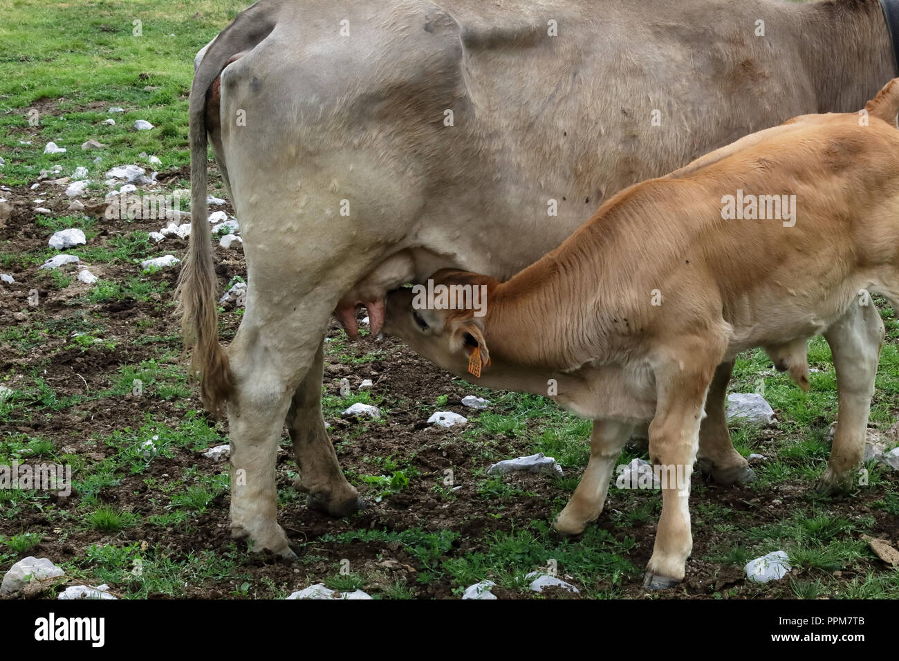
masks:
[[[789,117],[853,111],[896,74],[878,0],[263,0],[195,65],[185,339],[204,404],[227,404],[232,532],[282,555],[285,419],[310,502],[357,506],[321,416],[335,309],[352,332],[368,303],[377,333],[396,285],[442,267],[505,279],[628,184]],[[208,133],[245,240],[227,352]],[[729,373],[699,449],[724,481],[748,470],[727,436]]]

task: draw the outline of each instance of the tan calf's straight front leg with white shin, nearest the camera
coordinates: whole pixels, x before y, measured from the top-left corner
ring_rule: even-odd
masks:
[[[654,469],[668,478],[662,483],[662,515],[643,582],[651,589],[680,583],[693,548],[690,474],[699,448],[699,421],[717,366],[717,361],[703,364],[709,346],[716,346],[714,340],[684,344],[655,369],[658,402],[649,425],[649,458]]]

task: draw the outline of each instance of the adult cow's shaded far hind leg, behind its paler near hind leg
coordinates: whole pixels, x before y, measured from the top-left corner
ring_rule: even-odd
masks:
[[[364,506],[356,487],[346,481],[322,418],[324,342],[293,395],[287,427],[299,466],[294,487],[309,495],[309,506],[331,516],[346,516]]]

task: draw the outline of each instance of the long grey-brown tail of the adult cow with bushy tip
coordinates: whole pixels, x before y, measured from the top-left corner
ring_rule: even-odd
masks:
[[[257,3],[239,13],[209,44],[193,76],[190,97],[191,239],[175,297],[182,315],[184,350],[191,352],[191,380],[200,381],[200,399],[218,411],[234,390],[227,354],[218,344],[218,314],[212,232],[207,207],[206,94],[228,58],[253,49],[274,29],[277,3]]]

